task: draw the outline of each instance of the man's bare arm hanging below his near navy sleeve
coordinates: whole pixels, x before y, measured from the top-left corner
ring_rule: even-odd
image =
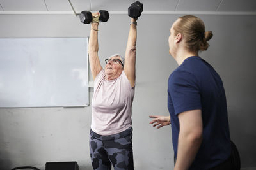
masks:
[[[179,113],[178,118],[180,132],[174,170],[187,170],[202,143],[202,112],[201,110],[184,111]]]

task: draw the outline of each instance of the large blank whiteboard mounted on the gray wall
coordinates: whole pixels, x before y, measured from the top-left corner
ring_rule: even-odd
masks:
[[[88,106],[88,38],[0,38],[0,108]]]

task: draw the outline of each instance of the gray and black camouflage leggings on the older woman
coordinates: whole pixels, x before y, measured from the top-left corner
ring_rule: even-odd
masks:
[[[118,134],[102,136],[90,131],[90,156],[95,170],[133,170],[132,127]]]

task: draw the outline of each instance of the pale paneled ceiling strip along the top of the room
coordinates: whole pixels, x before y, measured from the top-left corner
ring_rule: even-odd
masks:
[[[77,12],[83,10],[127,13],[134,0],[70,0]],[[250,13],[256,15],[256,0],[140,0],[145,13],[182,11]],[[72,12],[68,0],[0,0],[0,14],[14,12]]]

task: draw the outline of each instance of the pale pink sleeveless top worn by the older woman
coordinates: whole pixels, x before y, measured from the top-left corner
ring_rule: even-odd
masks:
[[[105,80],[102,69],[94,81],[92,97],[92,131],[111,135],[125,131],[132,125],[134,87],[124,71],[115,80]]]

